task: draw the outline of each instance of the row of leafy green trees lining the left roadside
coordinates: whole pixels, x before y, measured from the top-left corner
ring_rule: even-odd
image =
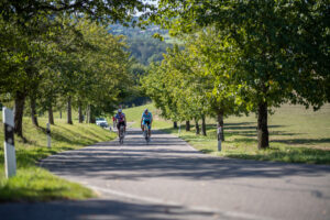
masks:
[[[87,120],[112,112],[132,94],[130,54],[122,36],[109,34],[109,23],[131,23],[136,11],[152,10],[132,0],[110,1],[1,1],[0,102],[14,102],[14,132],[23,136],[26,102],[32,121],[37,113],[72,106]]]

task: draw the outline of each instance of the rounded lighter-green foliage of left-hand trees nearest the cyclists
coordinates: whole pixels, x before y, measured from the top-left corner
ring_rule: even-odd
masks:
[[[80,122],[82,109],[88,108],[88,119],[94,122],[97,116],[112,112],[119,99],[130,94],[125,43],[122,36],[113,36],[87,19],[68,19],[63,32],[57,48],[61,53],[52,69],[56,70],[59,96],[68,102],[67,122],[73,121],[72,106],[78,109]]]

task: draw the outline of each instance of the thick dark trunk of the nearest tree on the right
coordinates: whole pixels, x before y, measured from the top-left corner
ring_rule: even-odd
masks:
[[[270,147],[267,125],[267,102],[261,101],[257,106],[257,148]]]

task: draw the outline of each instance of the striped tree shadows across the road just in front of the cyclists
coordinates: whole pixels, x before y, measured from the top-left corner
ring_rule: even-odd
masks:
[[[106,170],[108,173],[102,176],[103,179],[131,180],[154,177],[188,179],[280,178],[292,175],[319,176],[323,175],[324,172],[330,173],[330,166],[209,156],[197,151],[190,151],[185,142],[174,136],[154,138],[153,144],[146,145],[140,134],[132,135],[130,142],[124,145],[108,142],[57,154],[46,160],[43,166],[61,175],[94,178]]]

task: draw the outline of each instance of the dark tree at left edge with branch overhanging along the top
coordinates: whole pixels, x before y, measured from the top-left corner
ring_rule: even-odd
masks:
[[[1,1],[0,29],[3,31],[1,36],[4,36],[4,41],[0,45],[0,62],[1,67],[3,66],[0,72],[0,92],[15,94],[14,132],[23,136],[22,117],[25,97],[30,87],[30,80],[28,79],[38,80],[37,75],[40,72],[35,68],[36,63],[46,61],[44,57],[47,57],[43,56],[42,53],[47,45],[41,38],[52,36],[54,29],[61,30],[61,25],[53,23],[54,18],[62,13],[69,15],[85,13],[85,16],[97,21],[120,22],[128,25],[134,12],[145,12],[147,9],[152,10],[153,6],[139,0],[125,2],[101,0]],[[136,21],[133,22],[133,25],[135,23]],[[47,52],[47,50],[44,52]],[[28,82],[28,88],[25,82]]]

